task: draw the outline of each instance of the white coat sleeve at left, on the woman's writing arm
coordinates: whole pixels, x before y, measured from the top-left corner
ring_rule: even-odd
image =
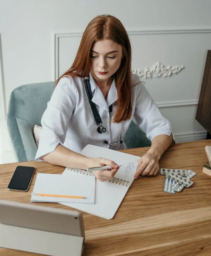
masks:
[[[42,132],[36,161],[42,161],[40,157],[64,143],[77,99],[78,93],[73,80],[66,77],[60,79],[41,119]]]

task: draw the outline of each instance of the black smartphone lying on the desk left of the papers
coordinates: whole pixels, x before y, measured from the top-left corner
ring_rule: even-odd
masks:
[[[8,185],[8,189],[24,192],[27,191],[34,172],[35,167],[17,166]]]

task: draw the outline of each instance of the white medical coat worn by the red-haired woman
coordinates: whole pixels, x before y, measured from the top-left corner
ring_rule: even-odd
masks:
[[[162,116],[159,109],[144,84],[135,74],[132,78],[132,116],[130,120],[123,122],[122,140],[130,125],[131,119],[136,119],[137,124],[146,132],[147,138],[153,138],[159,134],[171,134],[170,122]],[[138,84],[137,84],[138,83]],[[133,86],[133,84],[136,84]],[[109,106],[117,101],[115,81],[111,84],[107,99],[104,98],[100,88],[96,85],[90,73],[90,86],[92,90],[92,102],[96,104],[99,115],[106,132],[99,134],[89,99],[84,86],[84,79],[79,77],[65,77],[60,79],[58,85],[43,113],[38,151],[35,160],[42,161],[40,157],[55,150],[58,144],[75,152],[80,152],[87,144],[104,148],[123,149],[124,144],[110,146],[104,143],[116,143],[120,140],[121,122],[109,125]],[[112,118],[116,113],[116,105],[113,106]]]

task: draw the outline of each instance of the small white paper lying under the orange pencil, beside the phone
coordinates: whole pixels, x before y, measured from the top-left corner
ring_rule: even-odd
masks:
[[[87,175],[85,177],[75,172],[69,173],[68,177],[57,174],[38,173],[32,193],[76,195],[86,198],[59,198],[32,195],[31,202],[69,202],[77,204],[94,204],[95,177]]]

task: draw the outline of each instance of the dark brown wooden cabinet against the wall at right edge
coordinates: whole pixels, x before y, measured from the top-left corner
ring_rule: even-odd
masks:
[[[208,50],[196,114],[197,121],[211,136],[211,50]]]

